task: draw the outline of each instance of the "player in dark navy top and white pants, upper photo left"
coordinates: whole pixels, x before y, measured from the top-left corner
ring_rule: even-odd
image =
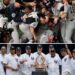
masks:
[[[13,32],[11,34],[12,39],[10,40],[9,43],[19,43],[20,42],[19,35],[18,35],[18,32],[17,32],[18,22],[15,21],[17,13],[20,12],[19,8],[20,8],[20,4],[16,2],[16,3],[8,6],[7,9],[6,9],[7,16],[10,14],[10,16],[8,16],[10,21],[7,25],[7,28],[13,29]]]

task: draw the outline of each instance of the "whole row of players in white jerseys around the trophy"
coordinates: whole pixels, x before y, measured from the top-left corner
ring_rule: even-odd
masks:
[[[45,59],[45,71],[48,75],[75,75],[75,49],[69,50],[68,46],[62,48],[62,59],[53,45],[49,45],[48,54],[43,53],[42,45],[37,46],[37,52],[32,53],[30,46],[25,47],[25,53],[21,54],[21,47],[10,47],[6,54],[6,47],[1,47],[0,75],[32,75],[36,71],[36,59],[43,56]],[[70,52],[72,51],[72,53]],[[16,52],[16,53],[15,53]]]

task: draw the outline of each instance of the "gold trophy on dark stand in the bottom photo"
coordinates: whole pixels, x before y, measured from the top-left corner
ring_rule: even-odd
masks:
[[[42,55],[37,56],[36,60],[35,60],[35,68],[38,71],[43,71],[46,69],[46,62],[45,62],[45,58]]]

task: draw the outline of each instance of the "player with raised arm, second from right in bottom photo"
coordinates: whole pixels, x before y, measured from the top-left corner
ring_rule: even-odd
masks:
[[[61,49],[62,59],[62,75],[72,75],[71,69],[71,52],[69,51],[67,45],[65,45],[66,49]]]

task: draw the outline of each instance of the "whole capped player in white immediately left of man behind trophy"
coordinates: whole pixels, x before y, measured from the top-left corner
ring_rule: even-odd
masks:
[[[26,46],[25,48],[26,53],[22,54],[20,57],[20,64],[21,64],[21,72],[22,75],[31,75],[31,47]]]

